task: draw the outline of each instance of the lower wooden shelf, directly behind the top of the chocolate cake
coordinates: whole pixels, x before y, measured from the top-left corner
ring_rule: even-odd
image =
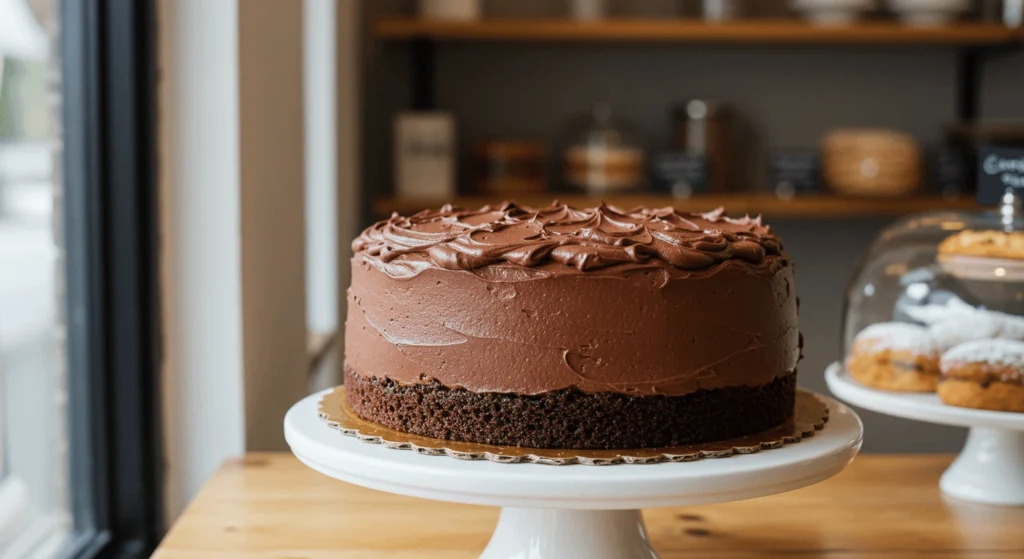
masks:
[[[544,207],[554,200],[560,200],[574,207],[596,206],[601,197],[552,192],[548,195],[529,195],[512,197],[513,200],[526,206]],[[414,200],[381,198],[374,203],[374,213],[378,218],[384,218],[391,212],[409,215],[424,208],[439,208],[445,202],[463,208],[478,208],[487,204],[501,202],[502,197],[458,197],[451,201]],[[628,209],[636,206],[666,207],[673,206],[684,211],[708,211],[724,207],[730,215],[764,215],[766,217],[799,217],[799,218],[836,218],[836,217],[867,217],[867,216],[898,216],[915,212],[939,210],[976,209],[977,204],[972,198],[944,200],[936,197],[872,199],[843,198],[835,196],[806,196],[793,200],[780,200],[771,195],[731,195],[731,196],[699,196],[687,200],[658,196],[654,193],[637,193],[626,196],[610,196],[605,200],[612,206]]]

